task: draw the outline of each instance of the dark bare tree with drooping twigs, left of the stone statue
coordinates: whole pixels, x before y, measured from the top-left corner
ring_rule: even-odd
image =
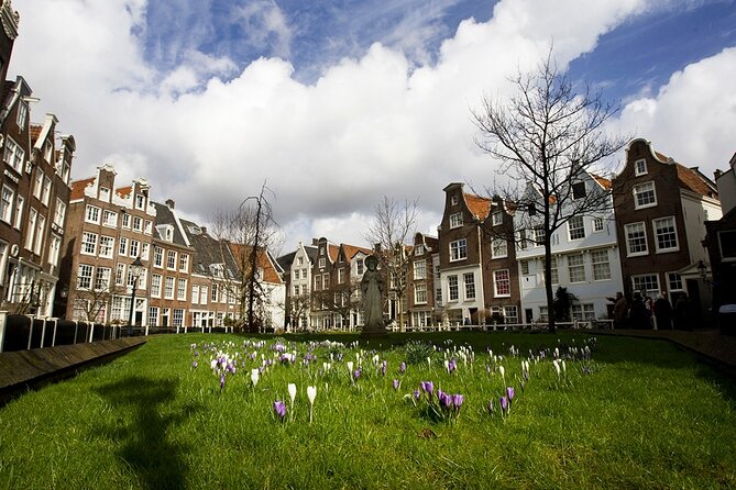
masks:
[[[281,238],[271,208],[270,198],[273,197],[264,182],[259,196],[245,198],[234,211],[218,213],[213,224],[222,268],[228,269],[230,264],[235,269],[231,272],[232,277],[221,283],[237,299],[240,326],[250,332],[263,330],[264,313],[271,305],[271,288],[264,285],[263,271],[268,249],[276,247]],[[213,275],[219,274],[216,268]]]

